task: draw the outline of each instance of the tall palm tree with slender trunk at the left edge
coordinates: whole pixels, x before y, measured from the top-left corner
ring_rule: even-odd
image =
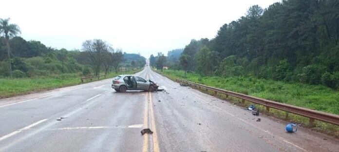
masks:
[[[8,54],[8,61],[9,61],[9,71],[10,76],[12,78],[12,65],[11,65],[11,53],[10,53],[10,46],[9,46],[9,38],[15,37],[21,33],[19,26],[17,24],[10,24],[10,18],[8,19],[0,19],[0,36],[3,35],[5,37],[5,42],[7,46],[7,54]]]

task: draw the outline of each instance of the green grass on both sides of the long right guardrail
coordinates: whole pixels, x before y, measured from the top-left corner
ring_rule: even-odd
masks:
[[[160,71],[158,70],[158,72]],[[322,85],[286,83],[258,79],[251,76],[231,76],[222,78],[218,76],[200,76],[195,73],[188,73],[187,77],[184,77],[184,71],[174,70],[163,70],[163,72],[160,73],[172,80],[175,80],[175,78],[182,78],[245,95],[261,97],[326,113],[339,114],[339,91]],[[206,93],[212,94],[212,92]],[[226,98],[226,95],[218,95],[218,97]],[[234,97],[229,97],[228,99],[231,100],[231,102],[244,107],[252,104],[250,102],[242,104],[240,99]],[[261,109],[261,112],[265,113],[264,106],[257,105],[257,107]],[[306,127],[311,127],[308,124],[308,118],[300,115],[288,114],[288,118],[286,118],[285,112],[275,109],[271,109],[270,112],[266,114],[273,115],[289,122],[303,124]],[[336,125],[316,121],[316,127],[313,127],[313,129],[339,137],[339,126]]]

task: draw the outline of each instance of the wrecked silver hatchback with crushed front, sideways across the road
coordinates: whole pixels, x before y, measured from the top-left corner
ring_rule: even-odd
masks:
[[[117,92],[126,92],[127,90],[144,90],[153,92],[158,89],[151,80],[146,80],[140,76],[135,75],[118,75],[113,78],[112,88]]]

